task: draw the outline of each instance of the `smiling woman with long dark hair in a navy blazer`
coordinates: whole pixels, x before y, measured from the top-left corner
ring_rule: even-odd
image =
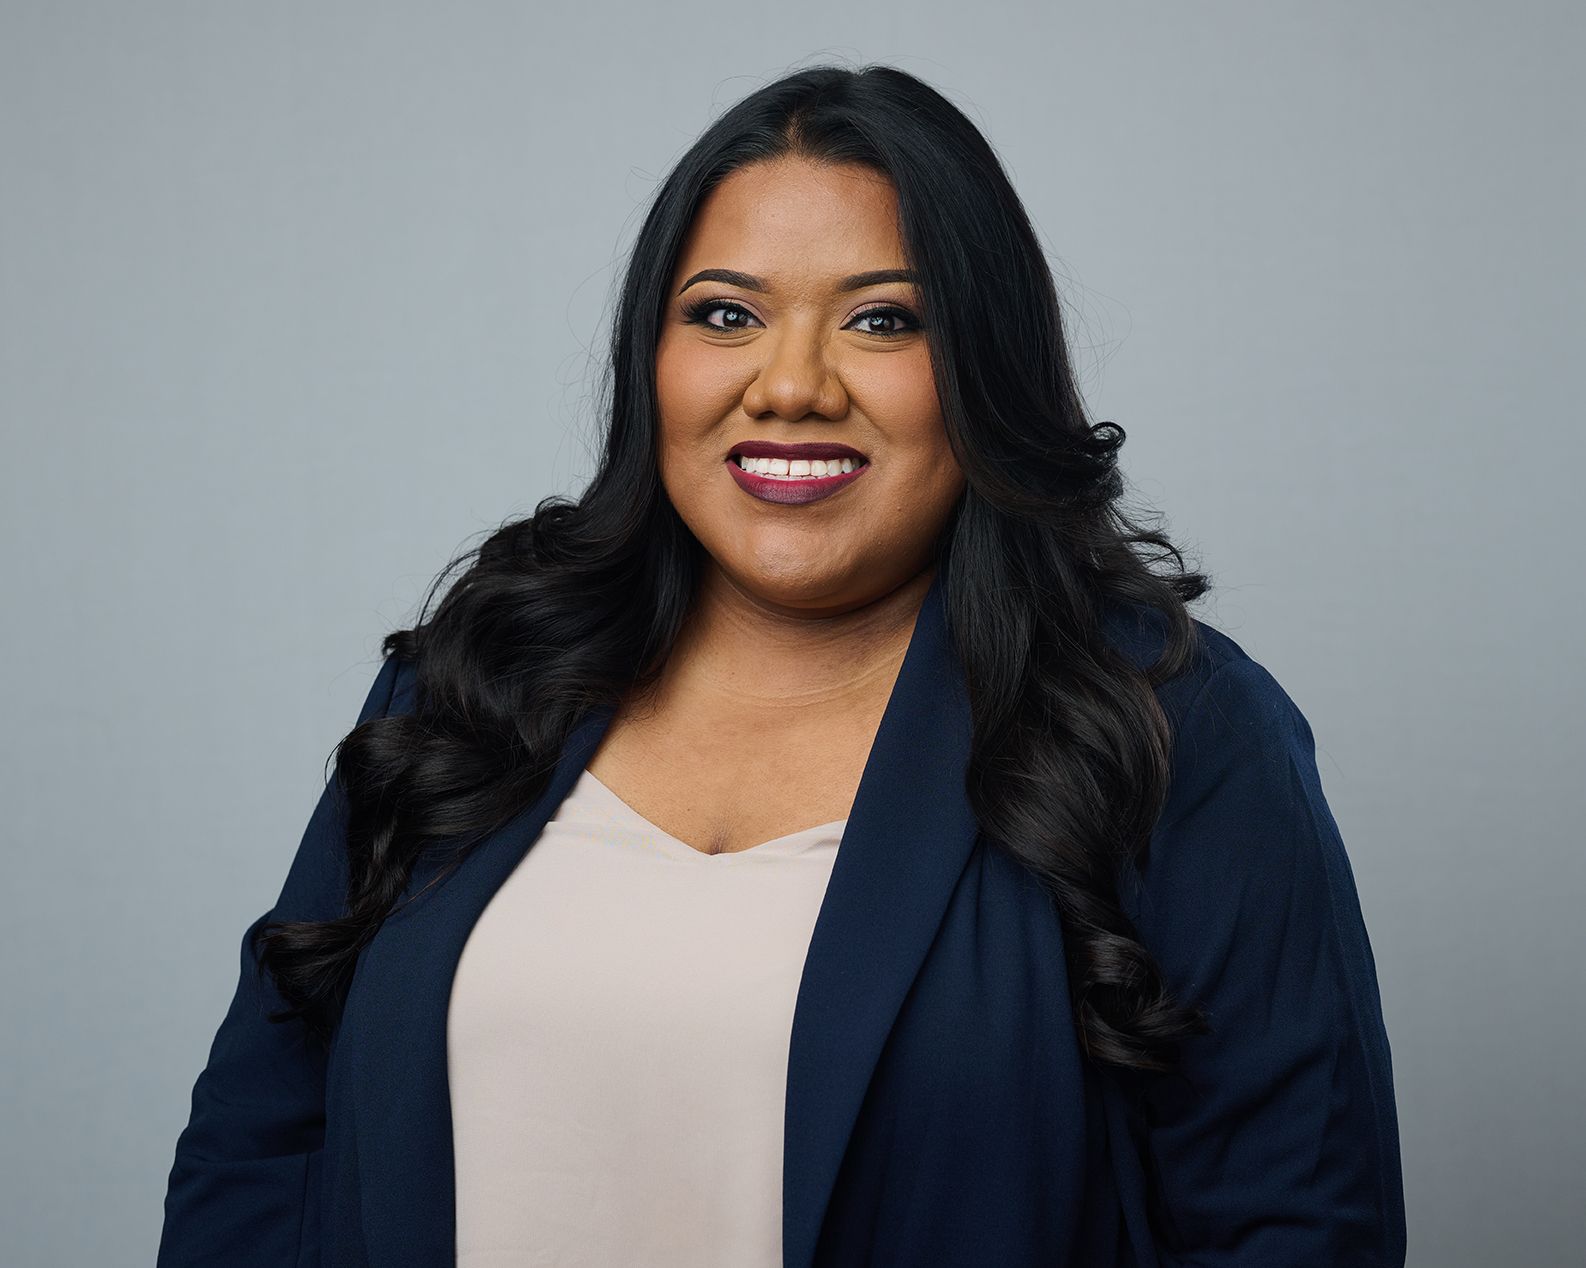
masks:
[[[1121,514],[972,124],[755,92],[612,355],[590,487],[385,640],[160,1263],[1402,1263],[1310,727]]]

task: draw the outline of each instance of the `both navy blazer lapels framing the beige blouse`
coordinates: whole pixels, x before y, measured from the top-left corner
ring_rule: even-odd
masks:
[[[945,571],[944,560],[915,621],[799,981],[782,1182],[788,1268],[814,1262],[871,1074],[977,840],[964,790],[969,700],[948,638]],[[343,1147],[357,1152],[373,1263],[417,1268],[454,1255],[452,978],[474,922],[566,798],[614,713],[606,705],[585,714],[541,797],[365,947],[338,1062],[355,1063],[346,1093],[355,1136]]]

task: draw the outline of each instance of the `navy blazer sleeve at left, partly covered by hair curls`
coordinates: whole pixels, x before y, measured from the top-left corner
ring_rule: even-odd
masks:
[[[398,660],[387,657],[358,722],[390,709]],[[230,1009],[192,1090],[167,1181],[157,1268],[295,1265],[317,1227],[325,1139],[325,1055],[285,1008],[268,973],[255,976],[254,930],[266,920],[324,920],[346,911],[346,798],[327,782],[276,905],[243,935]],[[312,1231],[309,1231],[312,1236]]]

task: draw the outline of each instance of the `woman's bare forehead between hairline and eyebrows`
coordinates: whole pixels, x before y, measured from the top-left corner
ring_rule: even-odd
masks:
[[[836,284],[869,268],[901,268],[898,195],[882,173],[776,159],[730,173],[699,205],[674,289],[699,268],[736,268],[772,287]]]

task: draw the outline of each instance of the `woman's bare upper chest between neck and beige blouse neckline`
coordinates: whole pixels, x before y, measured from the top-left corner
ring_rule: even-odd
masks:
[[[703,854],[845,819],[887,701],[810,716],[620,709],[588,770]]]

